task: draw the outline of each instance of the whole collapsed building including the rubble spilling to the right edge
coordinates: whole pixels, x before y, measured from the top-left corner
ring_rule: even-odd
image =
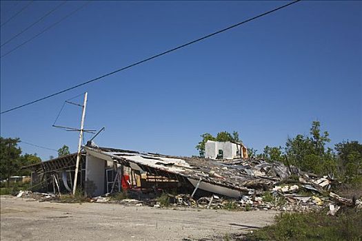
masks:
[[[76,159],[77,154],[70,154],[23,167],[32,170],[32,190],[46,191],[45,200],[54,198],[55,193],[71,192]],[[78,190],[97,202],[109,200],[101,196],[127,190],[137,193],[138,204],[141,196],[147,202],[152,200],[149,205],[157,203],[157,194],[168,193],[174,205],[188,207],[228,208],[232,200],[231,207],[244,209],[306,211],[329,207],[332,215],[339,205],[362,207],[361,200],[341,198],[330,191],[336,183],[332,176],[316,176],[261,159],[189,158],[87,143],[79,167]],[[24,193],[18,196],[29,195],[29,191]]]

